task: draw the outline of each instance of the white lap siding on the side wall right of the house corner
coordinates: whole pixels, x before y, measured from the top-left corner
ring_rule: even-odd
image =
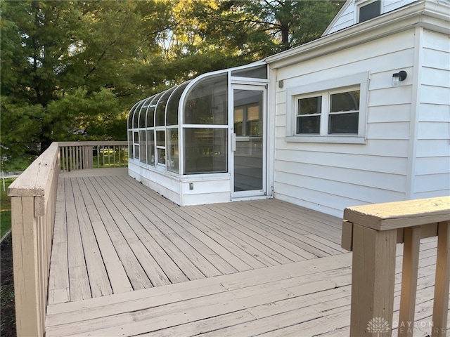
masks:
[[[413,198],[450,194],[450,41],[423,32]]]

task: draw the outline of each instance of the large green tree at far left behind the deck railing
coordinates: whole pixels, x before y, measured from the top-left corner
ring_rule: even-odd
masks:
[[[167,5],[3,1],[1,7],[2,148],[36,154],[55,140],[126,139],[125,123],[120,132],[112,126],[139,93],[134,70],[158,48],[165,18],[155,13]]]

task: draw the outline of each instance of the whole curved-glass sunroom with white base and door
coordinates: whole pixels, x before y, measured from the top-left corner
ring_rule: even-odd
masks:
[[[129,112],[129,175],[181,206],[267,196],[265,62],[203,74]]]

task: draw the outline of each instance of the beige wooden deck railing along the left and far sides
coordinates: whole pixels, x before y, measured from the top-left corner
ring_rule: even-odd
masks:
[[[61,169],[127,166],[126,145],[127,142],[52,143],[10,185],[17,336],[45,334],[56,190]]]

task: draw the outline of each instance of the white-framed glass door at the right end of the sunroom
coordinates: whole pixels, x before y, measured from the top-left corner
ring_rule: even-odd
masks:
[[[231,166],[233,199],[266,194],[266,88],[233,85]]]

